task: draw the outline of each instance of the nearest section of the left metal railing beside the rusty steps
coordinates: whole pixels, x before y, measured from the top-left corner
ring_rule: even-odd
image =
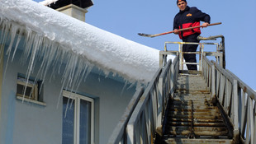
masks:
[[[159,68],[153,80],[145,89],[145,93],[141,96],[134,113],[131,114],[126,127],[127,143],[151,143],[153,141],[151,137],[154,137],[156,132],[157,91],[161,71],[162,69]]]

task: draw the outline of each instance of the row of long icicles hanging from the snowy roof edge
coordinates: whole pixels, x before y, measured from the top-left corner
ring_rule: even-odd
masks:
[[[9,44],[6,50],[7,63],[4,75],[7,72],[10,54],[13,52],[11,57],[13,62],[17,55],[16,53],[21,42],[21,37],[24,36],[25,40],[23,53],[21,54],[21,64],[26,65],[28,63],[26,71],[26,86],[31,75],[36,75],[34,85],[39,80],[42,81],[42,84],[45,83],[45,78],[50,70],[52,70],[52,72],[50,72],[50,81],[52,78],[55,78],[56,74],[62,75],[61,90],[59,91],[57,108],[63,90],[71,90],[71,92],[78,91],[82,81],[86,81],[89,73],[91,73],[92,68],[94,67],[94,65],[88,62],[86,58],[83,58],[83,55],[78,55],[77,53],[73,53],[72,50],[63,48],[60,44],[55,43],[55,41],[52,41],[50,38],[46,38],[45,36],[36,33],[29,27],[20,26],[14,21],[7,21],[2,17],[0,17],[0,25],[0,29],[2,31],[0,42],[2,43],[7,41]],[[7,39],[10,39],[10,41]],[[62,71],[62,68],[64,68],[64,71]],[[36,70],[38,71],[36,72]],[[105,69],[99,69],[99,71],[104,72],[106,77],[111,73],[110,70]],[[112,73],[112,77],[118,77],[117,75],[118,74],[116,72]],[[98,81],[100,81],[100,79],[98,79]],[[125,86],[122,88],[121,95],[129,83],[130,81],[126,81]],[[134,85],[135,82],[128,86],[128,89]],[[39,91],[41,91],[41,86]],[[25,91],[23,100],[24,97]]]

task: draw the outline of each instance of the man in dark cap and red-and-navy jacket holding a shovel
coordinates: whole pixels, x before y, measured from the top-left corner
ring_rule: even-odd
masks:
[[[200,21],[205,21],[202,24],[203,27],[209,26],[211,17],[201,12],[197,7],[188,7],[186,0],[178,0],[177,6],[179,8],[178,14],[174,17],[173,30],[174,34],[179,35],[183,42],[195,42],[199,43],[197,36],[201,34],[200,28],[178,31],[178,29],[184,29],[192,26],[200,26]],[[183,52],[196,52],[197,44],[183,44]],[[183,55],[186,63],[197,63],[196,54],[187,53]],[[187,64],[188,70],[197,70],[196,64]]]

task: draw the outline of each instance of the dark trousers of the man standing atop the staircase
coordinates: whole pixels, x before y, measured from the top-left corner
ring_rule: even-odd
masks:
[[[183,38],[183,42],[193,42],[199,43],[197,36],[199,34],[188,35],[187,37]],[[196,52],[198,44],[183,44],[183,52]],[[187,53],[183,54],[186,63],[197,63],[196,54],[194,53]],[[196,70],[197,71],[197,64],[187,64],[188,70]]]

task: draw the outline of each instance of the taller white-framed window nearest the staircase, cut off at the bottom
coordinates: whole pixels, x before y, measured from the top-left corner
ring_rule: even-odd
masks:
[[[94,142],[94,100],[63,91],[63,144],[92,144]]]

